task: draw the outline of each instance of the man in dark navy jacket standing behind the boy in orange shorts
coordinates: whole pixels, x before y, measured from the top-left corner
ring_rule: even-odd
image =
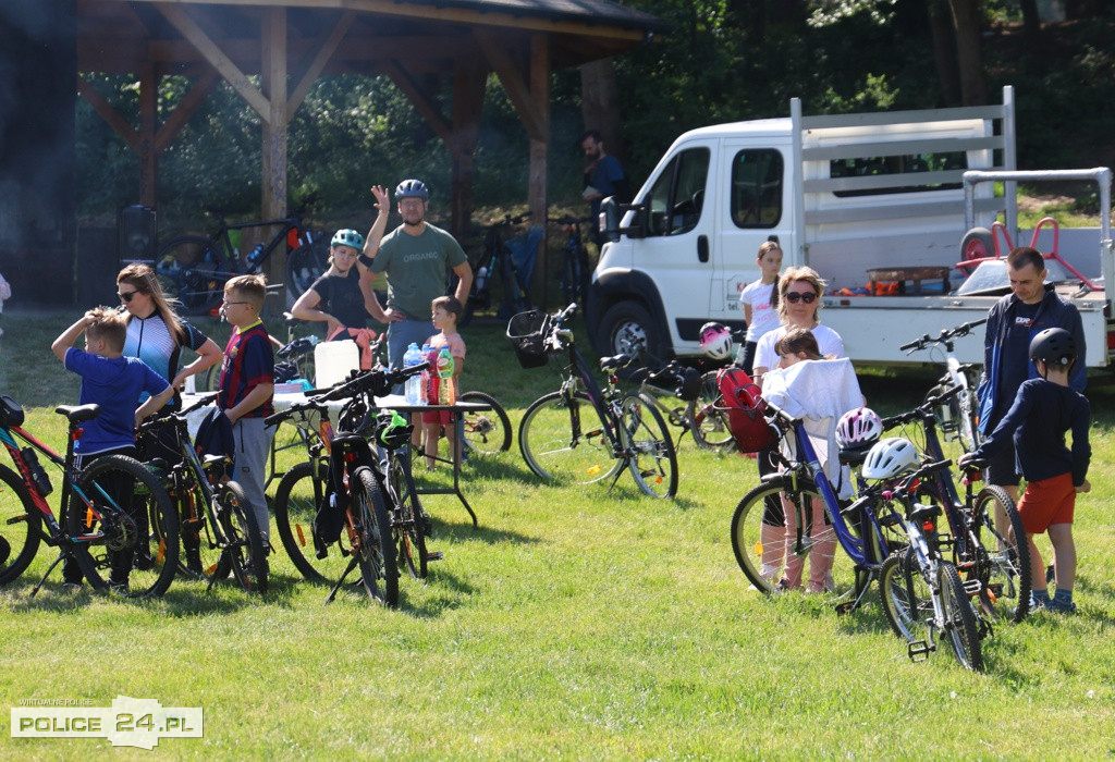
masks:
[[[983,378],[979,390],[979,429],[985,436],[995,431],[1015,401],[1018,388],[1027,379],[1037,378],[1030,362],[1030,340],[1050,328],[1073,334],[1079,362],[1069,375],[1069,385],[1083,391],[1086,381],[1084,324],[1080,313],[1061,299],[1053,284],[1046,285],[1045,258],[1041,252],[1019,246],[1007,255],[1010,293],[991,307],[983,339]],[[988,463],[987,481],[1007,490],[1018,501],[1020,477],[1015,467],[1014,442],[1002,448]]]

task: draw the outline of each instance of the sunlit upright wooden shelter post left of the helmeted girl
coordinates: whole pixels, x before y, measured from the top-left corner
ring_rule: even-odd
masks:
[[[262,39],[262,85],[268,99],[268,118],[263,120],[262,146],[262,212],[264,219],[274,219],[287,214],[287,9],[269,8],[263,16]],[[274,228],[262,228],[264,240],[274,234]],[[284,246],[268,260],[268,283],[277,284],[285,280],[287,251]],[[278,301],[269,301],[268,314],[277,314],[287,307],[285,291]]]

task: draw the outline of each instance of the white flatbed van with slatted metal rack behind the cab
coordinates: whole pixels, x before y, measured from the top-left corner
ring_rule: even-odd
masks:
[[[784,267],[808,265],[828,282],[822,321],[840,332],[853,360],[924,360],[899,348],[983,318],[1007,292],[1005,281],[961,289],[970,272],[956,266],[963,244],[976,237],[992,248],[987,228],[1000,211],[1008,233],[1000,248],[1008,238],[1030,243],[1014,229],[1017,182],[1045,177],[1015,169],[1009,87],[997,106],[838,116],[804,117],[795,98],[788,118],[690,130],[632,204],[603,206],[610,241],[589,292],[593,343],[610,354],[640,338],[660,358],[699,354],[706,321],[744,325],[739,293],[759,276],[759,245],[774,238]],[[1056,242],[1090,287],[1068,277],[1058,291],[1084,319],[1088,365],[1101,367],[1111,356],[1107,295],[1115,292],[1105,282],[1115,276],[1111,172],[1090,172],[1108,199],[1103,227],[1061,229]],[[1004,195],[983,182],[989,173],[1007,180]],[[1053,232],[1041,231],[1040,251],[1053,250]],[[859,295],[880,282],[896,285],[890,295]],[[979,332],[958,341],[957,354],[982,361]]]

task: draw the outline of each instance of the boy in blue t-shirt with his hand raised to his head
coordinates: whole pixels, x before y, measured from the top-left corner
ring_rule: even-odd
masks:
[[[81,377],[79,403],[100,406],[100,414],[81,426],[84,433],[74,443],[76,468],[88,466],[89,460],[107,455],[135,457],[135,427],[166,404],[174,393],[166,379],[142,360],[124,356],[127,331],[124,314],[108,307],[96,307],[62,331],[50,345],[66,370]],[[84,352],[74,346],[81,333],[85,333]],[[139,404],[139,398],[145,392],[151,397]],[[114,485],[113,491],[113,497],[129,508],[142,506],[139,502],[133,505],[128,499],[130,483]],[[133,518],[140,521],[137,516]],[[110,589],[127,592],[135,550],[135,547],[128,547],[109,551]],[[62,577],[66,587],[70,589],[81,584],[81,572],[68,557],[62,567]]]

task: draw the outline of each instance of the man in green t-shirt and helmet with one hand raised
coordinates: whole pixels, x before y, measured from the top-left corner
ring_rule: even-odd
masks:
[[[388,214],[390,201],[387,192],[376,186],[376,208],[380,216]],[[445,295],[446,270],[457,275],[454,295],[462,304],[468,301],[473,285],[473,270],[465,251],[456,238],[426,222],[429,211],[429,189],[421,180],[406,179],[395,188],[403,224],[380,240],[384,226],[372,225],[363,244],[360,261],[367,265],[361,274],[361,290],[368,312],[376,320],[387,323],[387,359],[391,368],[403,365],[403,353],[414,342],[418,345],[430,335],[430,302]],[[377,227],[379,234],[377,234]],[[375,273],[387,275],[387,309],[371,291]]]

